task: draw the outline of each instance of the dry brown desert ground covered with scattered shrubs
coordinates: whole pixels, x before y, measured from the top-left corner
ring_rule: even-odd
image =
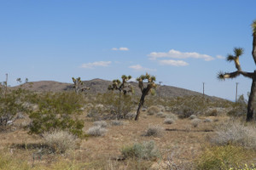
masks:
[[[3,91],[1,92],[3,93]],[[244,99],[8,92],[0,169],[255,169]]]

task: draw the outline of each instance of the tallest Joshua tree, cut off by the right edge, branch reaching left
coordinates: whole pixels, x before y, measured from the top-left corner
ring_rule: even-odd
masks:
[[[256,65],[256,20],[253,21],[252,24],[253,28],[253,60]],[[244,77],[251,78],[253,80],[252,82],[252,87],[251,87],[251,93],[248,99],[248,105],[247,105],[247,122],[253,120],[253,99],[255,97],[256,93],[256,70],[253,72],[246,72],[241,70],[241,65],[239,63],[239,57],[243,54],[243,49],[242,48],[234,48],[234,55],[229,54],[227,56],[227,61],[234,61],[236,65],[236,71],[234,72],[222,72],[220,71],[218,73],[218,78],[221,80],[224,80],[226,78],[236,78],[240,75]]]

